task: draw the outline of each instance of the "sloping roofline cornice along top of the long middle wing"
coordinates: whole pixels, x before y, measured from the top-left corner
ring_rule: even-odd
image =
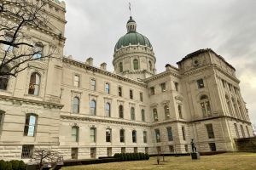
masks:
[[[94,71],[94,72],[100,73],[100,74],[108,76],[108,77],[113,77],[113,78],[119,79],[119,80],[124,81],[124,82],[130,82],[132,84],[142,86],[143,88],[147,88],[147,84],[144,83],[144,82],[137,82],[137,81],[132,80],[130,78],[123,77],[123,76],[120,76],[118,74],[115,74],[115,73],[112,73],[112,72],[109,72],[109,71],[105,71],[105,70],[102,70],[100,68],[96,68],[96,67],[91,66],[91,65],[87,65],[85,63],[82,63],[82,62],[74,60],[74,59],[67,59],[66,57],[63,57],[62,61],[64,63],[79,66],[80,68],[83,68],[85,70]]]

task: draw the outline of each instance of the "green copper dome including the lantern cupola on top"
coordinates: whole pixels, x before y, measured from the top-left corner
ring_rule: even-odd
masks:
[[[122,47],[127,47],[130,44],[139,44],[142,46],[147,46],[148,48],[152,48],[152,45],[149,42],[148,38],[136,31],[137,24],[135,20],[132,19],[132,17],[130,17],[130,20],[127,21],[126,27],[127,33],[125,34],[125,36],[119,38],[119,41],[115,44],[114,51]]]

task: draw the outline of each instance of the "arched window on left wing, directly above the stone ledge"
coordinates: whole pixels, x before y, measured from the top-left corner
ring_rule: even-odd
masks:
[[[37,72],[33,72],[30,77],[28,94],[38,95],[40,87],[40,75]]]

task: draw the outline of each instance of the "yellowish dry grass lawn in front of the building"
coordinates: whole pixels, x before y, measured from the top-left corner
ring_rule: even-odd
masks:
[[[63,170],[128,170],[128,169],[161,169],[161,170],[253,170],[256,169],[256,153],[225,153],[215,156],[201,156],[200,160],[191,160],[190,156],[160,157],[157,165],[156,157],[148,161],[121,161],[86,166],[62,167]]]

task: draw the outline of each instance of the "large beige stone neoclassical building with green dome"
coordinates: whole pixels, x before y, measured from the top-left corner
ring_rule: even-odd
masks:
[[[236,151],[253,136],[236,70],[212,49],[200,49],[156,73],[154,50],[128,20],[114,47],[114,72],[93,59],[63,56],[65,3],[47,4],[52,26],[26,28],[55,59],[36,60],[18,77],[0,77],[0,159],[28,159],[35,148],[65,159],[120,152]],[[3,17],[3,16],[1,16]],[[85,60],[85,59],[84,59]]]

